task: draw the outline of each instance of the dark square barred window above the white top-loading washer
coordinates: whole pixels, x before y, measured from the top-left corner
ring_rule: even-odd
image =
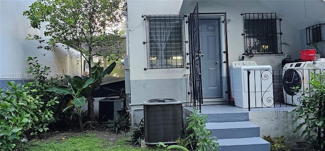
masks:
[[[245,54],[278,54],[281,49],[281,19],[276,13],[245,13]]]

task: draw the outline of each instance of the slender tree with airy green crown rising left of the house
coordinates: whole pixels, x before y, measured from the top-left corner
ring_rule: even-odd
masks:
[[[43,33],[50,39],[30,34],[26,39],[37,40],[41,44],[38,48],[49,51],[58,43],[80,51],[91,73],[93,56],[117,60],[122,55],[116,27],[122,22],[123,8],[122,0],[37,0],[23,15],[31,27],[45,28]],[[88,101],[88,117],[95,121],[93,99]]]

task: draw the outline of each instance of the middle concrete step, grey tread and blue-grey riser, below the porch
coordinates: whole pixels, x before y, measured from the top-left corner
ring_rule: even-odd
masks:
[[[259,127],[248,121],[206,123],[206,128],[218,139],[259,137]]]

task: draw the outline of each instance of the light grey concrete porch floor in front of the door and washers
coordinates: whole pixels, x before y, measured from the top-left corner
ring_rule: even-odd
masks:
[[[281,107],[263,107],[263,108],[241,108],[237,106],[231,106],[228,104],[217,104],[217,105],[202,105],[202,114],[220,114],[220,113],[236,113],[236,112],[252,112],[252,111],[291,111],[295,109],[295,106],[286,105],[284,103],[277,103],[275,106]]]

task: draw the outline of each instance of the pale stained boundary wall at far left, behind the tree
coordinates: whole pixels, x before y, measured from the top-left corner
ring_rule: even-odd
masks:
[[[28,80],[27,57],[38,57],[39,63],[51,68],[51,74],[81,75],[80,53],[73,49],[57,47],[49,52],[37,49],[37,41],[25,40],[28,34],[42,35],[42,30],[31,28],[23,16],[34,1],[0,1],[0,81]],[[46,54],[45,56],[43,54]],[[79,56],[79,57],[78,57]],[[13,75],[13,76],[11,76]],[[4,84],[4,83],[2,83]],[[5,87],[1,85],[0,87]]]

